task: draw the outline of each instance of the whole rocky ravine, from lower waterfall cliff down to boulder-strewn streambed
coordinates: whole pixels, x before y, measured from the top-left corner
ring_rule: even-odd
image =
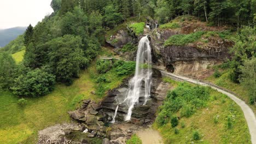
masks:
[[[102,140],[104,144],[125,143],[133,133],[147,128],[154,122],[158,107],[162,105],[167,91],[171,89],[169,83],[161,81],[161,77],[160,71],[153,69],[151,97],[146,105],[142,105],[144,97],[139,98],[141,104],[133,109],[131,121],[124,122],[128,107],[123,104],[118,109],[117,123],[110,123],[117,104],[125,98],[128,90],[129,79],[125,79],[122,85],[109,91],[101,103],[83,100],[79,109],[68,112],[74,119],[73,124],[57,124],[39,131],[38,144],[101,143]]]

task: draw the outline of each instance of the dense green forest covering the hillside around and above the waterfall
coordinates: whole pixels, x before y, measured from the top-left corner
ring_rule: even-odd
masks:
[[[255,69],[247,69],[255,65],[255,0],[53,0],[51,7],[54,13],[36,27],[28,26],[24,37],[18,38],[19,43],[23,39],[20,47],[7,45],[1,50],[0,86],[16,95],[39,97],[50,93],[56,82],[71,85],[79,70],[88,68],[97,56],[106,31],[129,17],[152,17],[161,24],[181,15],[197,16],[209,26],[229,26],[230,31],[237,31],[231,50],[234,57],[226,67],[233,71],[230,79],[251,86],[248,81],[252,81]],[[16,65],[8,53],[23,46],[24,61]],[[251,95],[253,104],[253,87]]]

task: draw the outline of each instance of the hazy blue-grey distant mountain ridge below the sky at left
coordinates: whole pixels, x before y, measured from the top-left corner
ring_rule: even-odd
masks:
[[[8,29],[0,29],[0,47],[4,47],[11,40],[14,40],[18,35],[23,34],[26,31],[26,27],[14,27]]]

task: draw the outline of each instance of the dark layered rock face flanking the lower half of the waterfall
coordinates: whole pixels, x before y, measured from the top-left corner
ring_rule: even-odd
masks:
[[[144,103],[144,95],[139,98],[139,105],[135,105],[132,111],[131,123],[135,124],[147,124],[152,123],[155,119],[155,113],[158,110],[158,106],[162,104],[162,101],[166,97],[167,91],[170,89],[168,83],[161,81],[161,73],[158,70],[153,70],[153,81],[151,85],[151,97],[146,105]],[[122,103],[125,99],[126,92],[128,91],[129,79],[124,80],[123,85],[119,88],[110,91],[106,98],[101,103],[102,110],[104,112],[104,121],[110,122],[114,116],[115,109],[119,103]],[[124,117],[128,111],[127,105],[119,105],[118,114],[115,118],[116,121],[123,122]]]

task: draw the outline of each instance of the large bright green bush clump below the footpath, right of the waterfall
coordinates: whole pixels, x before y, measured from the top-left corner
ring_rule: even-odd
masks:
[[[174,113],[180,111],[181,116],[189,117],[195,113],[195,107],[206,105],[210,99],[210,88],[203,86],[191,86],[189,83],[179,83],[173,91],[167,93],[167,98],[159,109],[156,123],[160,126],[171,121],[175,126]],[[173,119],[172,119],[173,118]],[[177,126],[177,125],[176,125]]]

